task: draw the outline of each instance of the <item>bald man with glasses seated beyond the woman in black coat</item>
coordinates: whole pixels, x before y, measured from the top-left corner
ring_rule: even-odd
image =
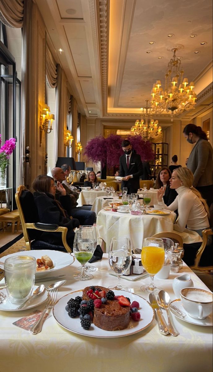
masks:
[[[54,180],[56,182],[58,181],[61,182],[61,184],[66,178],[63,169],[59,167],[55,167],[54,169],[52,169],[51,173]],[[78,205],[77,199],[79,196],[78,192],[70,190],[69,187],[67,187],[64,183],[62,184],[62,187],[64,187],[64,189],[66,190],[66,194],[70,195],[71,198],[72,209],[71,211],[67,211],[68,214],[70,214],[73,218],[77,218],[78,221],[80,222],[80,225],[93,225],[96,219],[96,213],[90,210],[91,206],[78,207],[77,206]],[[59,200],[59,195],[60,192],[56,190],[55,198],[57,200]]]

